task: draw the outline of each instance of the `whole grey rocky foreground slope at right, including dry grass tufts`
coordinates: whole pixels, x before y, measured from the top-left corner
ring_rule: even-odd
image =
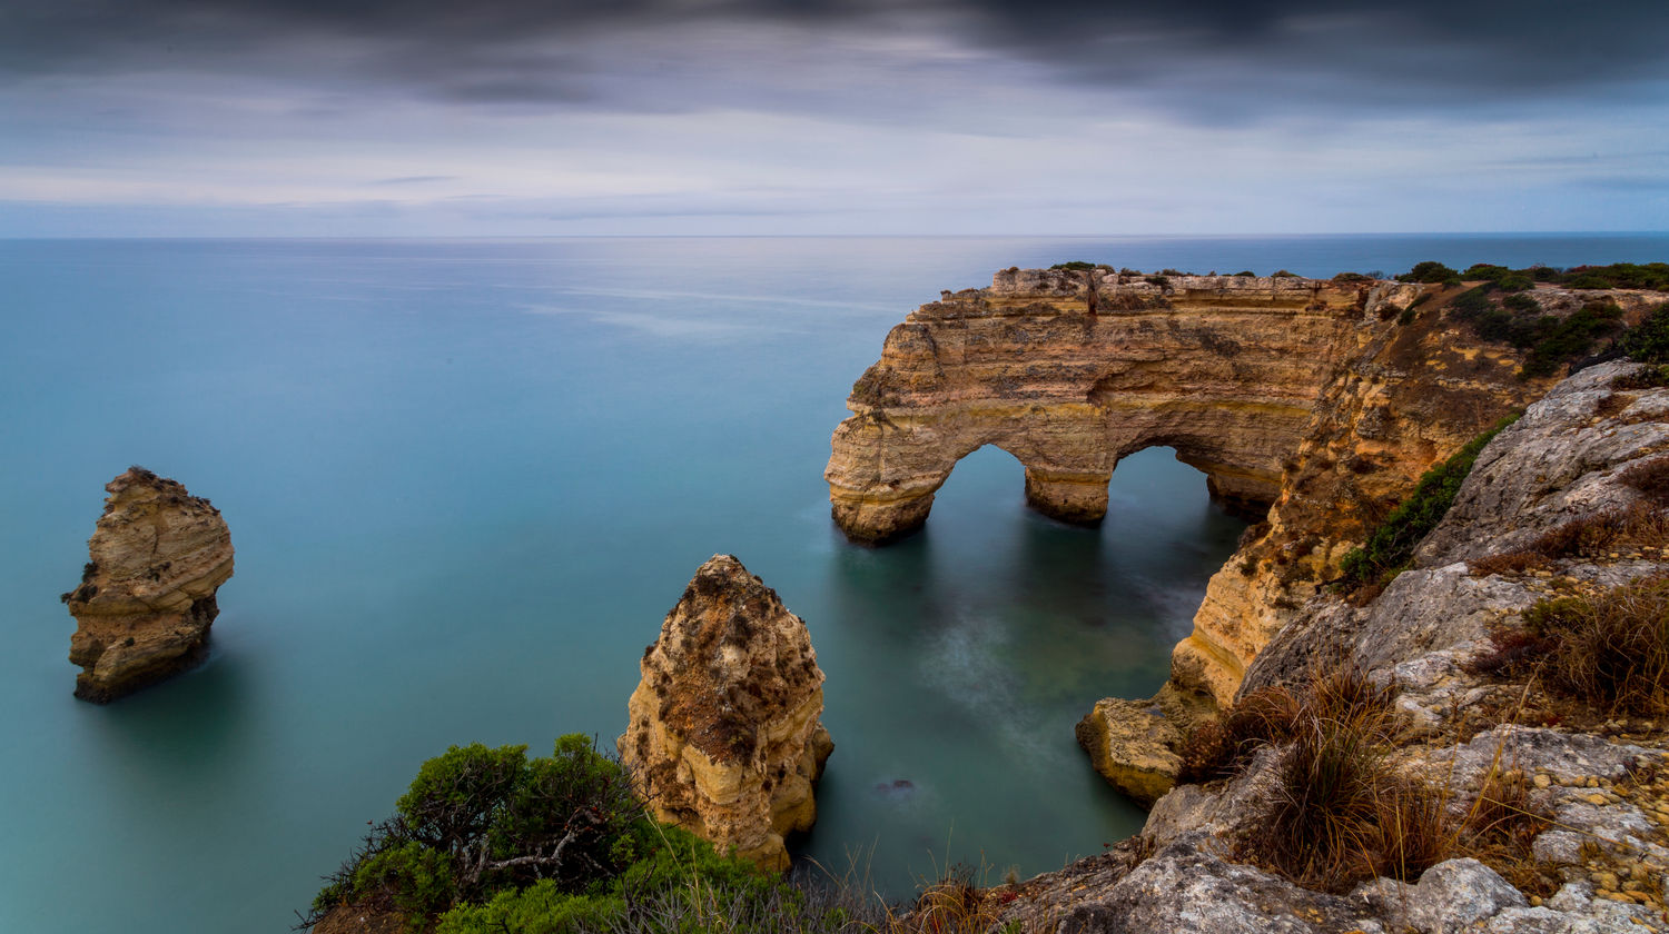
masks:
[[[1334,804],[1305,781],[1307,734],[1265,729],[1242,734],[1213,781],[1163,796],[1138,837],[990,892],[1001,906],[993,914],[1025,931],[1123,934],[1661,929],[1661,372],[1634,364],[1557,384],[1484,447],[1412,569],[1355,600],[1312,594],[1258,652],[1235,709],[1265,727],[1278,700],[1314,689],[1324,667],[1359,672],[1364,695],[1385,704],[1379,749],[1354,761],[1377,776],[1370,832],[1352,836],[1334,884],[1265,857],[1293,806],[1310,809],[1315,827],[1325,826],[1317,814],[1349,816],[1329,812]],[[1619,620],[1642,627],[1634,632],[1646,642],[1626,642],[1626,627],[1589,637]],[[1614,684],[1571,677],[1589,662]],[[1611,694],[1584,694],[1591,687]],[[1359,714],[1319,722],[1337,734]],[[1410,836],[1422,826],[1429,836]],[[1327,842],[1320,831],[1303,839]]]

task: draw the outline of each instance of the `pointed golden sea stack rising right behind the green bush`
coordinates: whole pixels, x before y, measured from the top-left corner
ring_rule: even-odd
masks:
[[[811,635],[733,555],[696,570],[644,650],[621,761],[661,821],[763,869],[816,821],[813,786],[834,751]]]

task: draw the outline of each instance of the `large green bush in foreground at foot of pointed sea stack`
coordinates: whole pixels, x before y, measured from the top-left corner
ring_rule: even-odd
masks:
[[[577,734],[549,757],[454,746],[429,759],[299,927],[337,906],[436,934],[876,931],[856,886],[791,882],[658,824],[621,764]]]

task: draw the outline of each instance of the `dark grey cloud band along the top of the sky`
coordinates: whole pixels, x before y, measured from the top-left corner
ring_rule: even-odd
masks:
[[[734,58],[748,57],[749,27],[798,30],[813,42],[819,30],[936,38],[1041,63],[1068,83],[1148,92],[1225,120],[1257,97],[1447,108],[1669,77],[1662,53],[1669,3],[1661,0],[55,0],[8,7],[0,10],[0,75],[13,78],[254,72],[379,80],[466,102],[644,107],[651,95],[638,93],[643,85],[629,78],[651,80],[668,43],[704,27],[734,30],[733,48],[709,50],[731,68],[746,68]],[[768,50],[764,63],[778,63]],[[781,75],[761,68],[756,78],[764,90]],[[729,93],[748,97],[746,88]]]

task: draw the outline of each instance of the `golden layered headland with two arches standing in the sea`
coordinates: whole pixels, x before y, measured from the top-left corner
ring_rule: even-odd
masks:
[[[1415,289],[1100,267],[946,292],[853,385],[824,472],[834,522],[870,544],[915,532],[988,444],[1025,467],[1026,502],[1066,522],[1100,522],[1118,460],[1155,445],[1220,502],[1267,510],[1325,382]]]

